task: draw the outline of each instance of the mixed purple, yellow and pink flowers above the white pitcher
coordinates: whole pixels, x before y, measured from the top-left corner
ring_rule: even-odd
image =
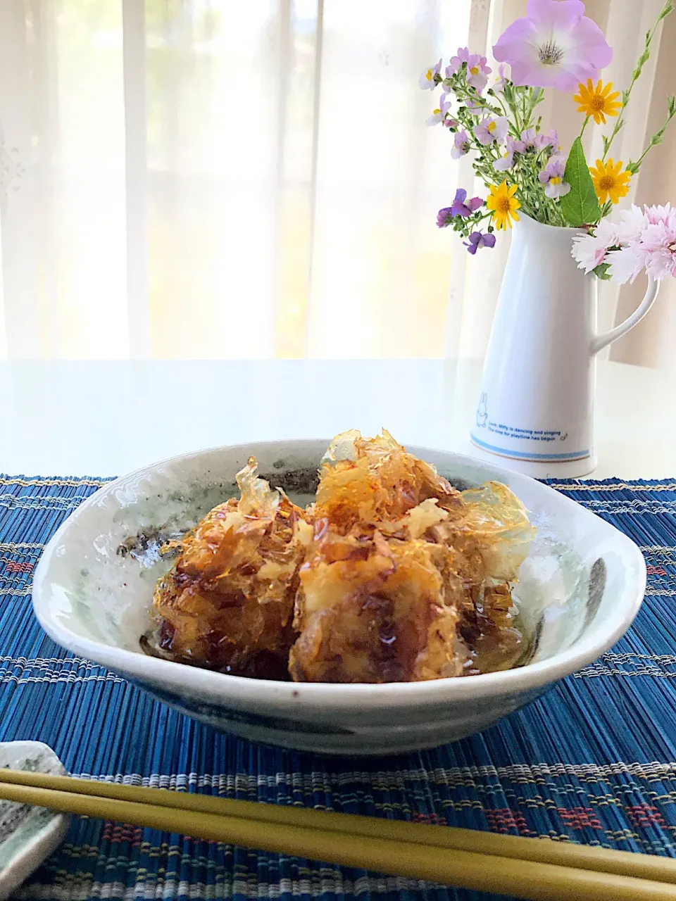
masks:
[[[452,205],[439,211],[437,225],[459,232],[467,250],[475,254],[480,248],[493,247],[494,232],[511,228],[520,210],[539,223],[589,232],[577,239],[574,254],[580,267],[599,278],[634,278],[639,262],[646,268],[653,259],[647,254],[656,250],[662,262],[651,263],[653,278],[674,274],[676,250],[670,248],[676,214],[669,207],[640,215],[633,210],[617,227],[606,220],[676,114],[676,98],[671,96],[665,122],[638,159],[625,165],[609,155],[625,123],[632,90],[650,57],[655,29],[672,9],[672,0],[667,0],[645,36],[631,81],[621,92],[598,77],[613,51],[598,25],[584,15],[580,0],[529,0],[525,17],[509,25],[493,47],[499,62],[497,78],[491,79],[486,57],[466,47],[450,59],[443,74],[441,59],[428,68],[420,76],[420,86],[425,90],[441,87],[442,94],[427,124],[439,124],[451,132],[452,158],[471,154],[474,172],[489,191],[486,198],[468,199],[466,189],[458,188]],[[562,153],[556,130],[543,130],[538,114],[548,87],[573,95],[583,114],[580,134],[567,154]],[[603,136],[602,155],[592,167],[581,141],[589,119],[604,125],[607,119],[615,120]],[[651,229],[645,232],[648,226]],[[658,228],[662,229],[659,235]]]

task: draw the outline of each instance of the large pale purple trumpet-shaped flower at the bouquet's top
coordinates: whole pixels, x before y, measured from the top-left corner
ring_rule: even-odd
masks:
[[[613,58],[598,25],[584,15],[581,0],[528,0],[493,47],[508,62],[515,85],[557,87],[571,94],[580,81],[596,79]]]

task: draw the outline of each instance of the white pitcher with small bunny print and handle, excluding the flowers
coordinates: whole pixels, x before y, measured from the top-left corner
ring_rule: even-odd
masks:
[[[596,467],[596,355],[644,317],[659,286],[650,280],[635,312],[597,335],[597,279],[571,257],[576,233],[525,215],[515,223],[471,427],[474,444],[530,475]]]

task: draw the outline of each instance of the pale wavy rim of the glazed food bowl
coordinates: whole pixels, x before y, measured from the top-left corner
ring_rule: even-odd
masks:
[[[73,632],[67,626],[58,623],[50,615],[48,601],[50,560],[59,547],[62,537],[69,532],[73,523],[77,522],[81,511],[95,505],[105,494],[114,492],[124,483],[132,481],[147,474],[153,469],[160,469],[169,464],[176,465],[181,462],[196,460],[219,451],[242,451],[249,456],[256,453],[258,448],[271,448],[283,445],[289,450],[297,448],[298,451],[312,452],[325,449],[328,441],[321,439],[289,439],[271,441],[247,441],[238,444],[217,445],[200,451],[188,451],[177,454],[164,460],[158,460],[146,466],[134,469],[132,472],[106,482],[86,500],[78,505],[78,508],[61,523],[59,528],[50,538],[42,551],[41,559],[34,573],[32,586],[32,607],[38,622],[44,631],[55,642],[68,651],[77,653],[87,660],[93,660],[113,669],[123,676],[138,679],[140,683],[155,684],[162,688],[172,688],[178,696],[186,694],[189,686],[191,695],[205,699],[206,702],[215,699],[227,700],[230,705],[238,709],[249,709],[251,704],[257,706],[276,705],[279,710],[295,709],[303,705],[315,713],[324,709],[331,711],[348,711],[354,709],[355,702],[359,702],[360,709],[377,709],[382,705],[391,708],[403,708],[411,705],[433,706],[440,702],[457,702],[463,700],[476,700],[484,697],[500,697],[520,695],[526,691],[542,688],[560,678],[571,675],[597,658],[608,648],[617,642],[633,622],[635,615],[644,600],[646,586],[646,567],[644,556],[638,546],[624,532],[620,532],[614,525],[607,523],[596,514],[582,505],[573,501],[570,497],[563,496],[552,487],[538,482],[536,479],[525,476],[503,467],[494,466],[492,462],[480,460],[457,451],[448,451],[441,448],[429,448],[414,444],[407,444],[407,449],[416,456],[425,460],[425,453],[441,454],[448,458],[449,464],[457,460],[458,464],[489,469],[500,481],[511,483],[517,487],[520,483],[535,486],[535,490],[542,492],[544,496],[549,494],[557,499],[557,504],[569,506],[576,510],[578,515],[592,518],[596,521],[596,527],[604,532],[612,534],[616,541],[624,545],[622,555],[627,567],[634,565],[635,581],[626,580],[621,592],[616,597],[616,603],[612,614],[604,622],[605,629],[591,630],[591,634],[581,633],[579,639],[565,651],[553,654],[546,660],[536,663],[528,663],[516,669],[499,670],[498,672],[482,673],[480,675],[465,678],[440,678],[418,682],[388,682],[381,684],[369,683],[325,683],[325,682],[281,682],[272,679],[257,679],[243,676],[231,676],[225,673],[215,672],[210,669],[187,666],[172,660],[160,660],[143,654],[142,651],[127,651],[116,648],[103,642],[95,642],[78,633]],[[518,493],[516,491],[516,493]],[[594,621],[592,620],[592,623]]]

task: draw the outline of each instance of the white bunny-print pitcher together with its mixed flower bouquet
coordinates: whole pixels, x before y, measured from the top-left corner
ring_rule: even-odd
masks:
[[[632,207],[617,223],[608,216],[676,114],[670,97],[662,127],[637,159],[625,164],[610,155],[656,29],[672,7],[667,0],[645,35],[622,91],[598,75],[612,50],[580,0],[528,0],[525,17],[509,25],[493,47],[497,77],[486,57],[467,48],[443,72],[440,59],[420,77],[421,87],[442,89],[427,123],[452,134],[452,158],[469,154],[488,189],[487,196],[470,197],[458,188],[452,204],[439,211],[437,225],[458,232],[472,255],[495,246],[497,232],[517,225],[470,437],[529,475],[551,476],[553,464],[560,476],[594,469],[596,354],[648,311],[660,278],[676,275],[676,210]],[[538,112],[552,87],[571,94],[582,114],[567,153],[555,129],[543,128]],[[608,127],[590,167],[582,137],[592,119]],[[597,334],[598,278],[622,282],[642,271],[648,287],[641,304],[624,323]],[[590,272],[598,278],[589,278]]]

